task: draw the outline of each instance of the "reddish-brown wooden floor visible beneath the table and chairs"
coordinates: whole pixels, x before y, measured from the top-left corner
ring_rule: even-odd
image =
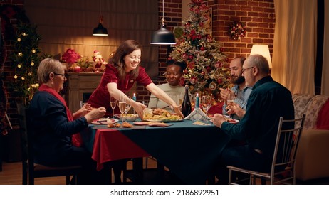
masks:
[[[143,165],[146,167],[146,158]],[[152,158],[147,158],[147,168],[156,168],[157,163]],[[127,163],[127,169],[132,168],[131,161]],[[22,184],[21,162],[6,163],[3,162],[3,168],[0,172],[0,185],[21,185]],[[127,180],[129,182],[129,179]],[[113,181],[114,183],[114,181]],[[329,185],[329,178],[316,179],[311,181],[296,181],[301,185]],[[36,185],[65,185],[65,177],[36,178]]]

